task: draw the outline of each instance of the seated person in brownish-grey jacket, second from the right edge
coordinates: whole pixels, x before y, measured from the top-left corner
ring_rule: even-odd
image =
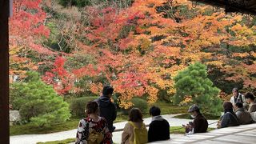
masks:
[[[234,110],[241,125],[246,125],[251,122],[250,113],[243,108],[242,102],[237,102],[234,105]]]

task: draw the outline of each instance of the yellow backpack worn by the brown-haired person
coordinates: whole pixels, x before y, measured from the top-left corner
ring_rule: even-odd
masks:
[[[142,122],[141,128],[134,125],[134,122],[129,122],[131,126],[134,126],[134,144],[147,143],[147,130],[145,124]]]

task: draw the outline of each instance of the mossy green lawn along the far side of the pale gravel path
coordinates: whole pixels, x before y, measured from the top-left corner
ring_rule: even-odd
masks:
[[[154,106],[159,106],[162,110],[162,114],[184,114],[187,111],[187,106],[172,106],[167,102],[156,102]],[[150,106],[148,107],[150,109]],[[149,110],[147,110],[149,111]],[[150,115],[143,114],[143,118],[149,118]],[[62,122],[54,126],[38,127],[31,124],[10,126],[10,135],[19,134],[48,134],[65,130],[73,130],[78,126],[80,118],[71,118],[67,122]],[[118,117],[114,122],[123,122],[128,120],[128,115],[122,114],[118,111]]]

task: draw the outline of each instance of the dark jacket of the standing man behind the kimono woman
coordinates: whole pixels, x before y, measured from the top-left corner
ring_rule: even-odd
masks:
[[[113,102],[105,95],[96,99],[99,105],[100,116],[106,119],[110,132],[114,131],[113,122],[117,117],[117,108]]]

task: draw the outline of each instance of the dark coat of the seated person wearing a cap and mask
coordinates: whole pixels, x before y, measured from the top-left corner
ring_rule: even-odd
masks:
[[[198,114],[193,122],[194,134],[205,133],[208,129],[208,122],[202,114]]]

